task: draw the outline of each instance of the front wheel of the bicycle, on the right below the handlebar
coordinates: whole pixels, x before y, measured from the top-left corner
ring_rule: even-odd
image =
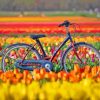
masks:
[[[74,47],[79,58],[76,56],[72,46],[63,54],[62,66],[67,72],[73,70],[76,64],[81,68],[87,65],[90,67],[100,66],[100,53],[92,45],[80,42],[74,44]]]

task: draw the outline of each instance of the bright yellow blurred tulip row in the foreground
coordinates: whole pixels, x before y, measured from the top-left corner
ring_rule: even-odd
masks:
[[[0,100],[99,100],[100,83],[84,79],[80,83],[32,82],[29,85],[0,84]]]

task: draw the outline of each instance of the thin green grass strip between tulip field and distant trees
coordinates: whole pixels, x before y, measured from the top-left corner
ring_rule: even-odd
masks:
[[[89,12],[82,12],[82,11],[41,11],[41,12],[7,12],[7,11],[1,11],[0,16],[83,16],[83,17],[100,17],[100,13],[98,15],[96,13],[89,13]]]

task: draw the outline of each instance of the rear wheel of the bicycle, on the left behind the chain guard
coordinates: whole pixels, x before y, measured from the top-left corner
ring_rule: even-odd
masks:
[[[14,70],[16,68],[15,63],[17,60],[31,60],[40,59],[40,54],[38,51],[32,47],[31,45],[20,43],[20,44],[14,44],[10,46],[10,48],[7,49],[5,52],[3,58],[1,67],[2,70],[5,72],[7,70]],[[34,68],[37,66],[33,66]]]

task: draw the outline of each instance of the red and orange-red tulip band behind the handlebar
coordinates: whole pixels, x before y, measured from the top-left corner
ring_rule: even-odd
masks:
[[[58,22],[23,22],[23,23],[0,23],[0,33],[45,33],[45,34],[65,34],[65,27],[58,27]],[[98,33],[100,32],[100,23],[74,23],[74,26],[70,27],[70,32],[79,33]]]

